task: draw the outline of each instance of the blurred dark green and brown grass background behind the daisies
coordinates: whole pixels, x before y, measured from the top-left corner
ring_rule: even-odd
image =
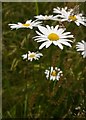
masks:
[[[12,2],[2,3],[2,114],[3,118],[85,118],[86,115],[86,59],[76,52],[75,44],[86,39],[85,27],[71,23],[67,31],[75,36],[73,47],[56,46],[40,50],[39,61],[25,61],[21,55],[28,50],[38,51],[39,44],[32,39],[34,29],[11,30],[9,23],[34,20],[38,14],[53,14],[53,8],[73,8],[80,5],[86,14],[86,4],[77,2]],[[57,25],[56,21],[44,21]],[[66,23],[67,26],[68,23]],[[63,77],[56,82],[46,80],[45,69],[60,67]]]

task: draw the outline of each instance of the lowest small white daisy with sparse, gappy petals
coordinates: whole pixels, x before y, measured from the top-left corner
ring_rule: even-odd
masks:
[[[63,72],[60,68],[57,67],[50,67],[48,70],[45,70],[46,78],[50,80],[57,80],[59,81],[60,77],[63,76]]]

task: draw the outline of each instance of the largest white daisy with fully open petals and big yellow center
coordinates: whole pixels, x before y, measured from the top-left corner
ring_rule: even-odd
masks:
[[[73,35],[70,34],[70,32],[64,32],[66,28],[59,28],[59,25],[55,26],[38,26],[38,29],[40,32],[36,31],[38,36],[35,36],[35,40],[37,42],[44,42],[41,44],[39,49],[42,49],[44,46],[48,48],[51,44],[58,45],[60,49],[63,49],[63,45],[71,47],[71,44],[68,42],[72,42],[68,38],[73,38]]]

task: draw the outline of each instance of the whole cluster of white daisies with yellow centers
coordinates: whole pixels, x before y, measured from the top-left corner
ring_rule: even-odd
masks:
[[[76,7],[75,7],[76,8]],[[75,9],[74,8],[74,9]],[[71,22],[74,22],[75,25],[78,27],[80,25],[86,26],[86,18],[83,16],[82,13],[74,13],[74,9],[68,9],[65,8],[54,8],[53,13],[55,15],[37,15],[34,16],[36,20],[27,20],[25,23],[18,22],[17,24],[8,24],[13,29],[19,29],[19,28],[28,28],[33,29],[34,27],[37,27],[38,30],[36,30],[36,36],[33,36],[34,41],[37,41],[38,43],[42,43],[39,47],[39,50],[45,48],[49,48],[51,44],[58,46],[61,50],[63,50],[63,45],[72,47],[71,43],[73,43],[74,35],[71,34],[70,31],[66,31],[66,27],[62,27],[59,24],[56,26],[49,26],[43,25],[43,21],[45,20],[52,20],[52,21],[58,21],[63,24],[63,22],[68,22],[71,24]],[[76,50],[81,51],[83,58],[86,57],[86,42],[84,40],[81,40],[81,42],[78,42],[76,44]],[[22,55],[23,59],[27,59],[29,61],[39,60],[39,58],[43,56],[40,52],[28,52],[24,55]],[[60,77],[63,76],[63,72],[58,67],[49,67],[49,69],[45,70],[46,78],[50,80],[57,80],[59,81]]]

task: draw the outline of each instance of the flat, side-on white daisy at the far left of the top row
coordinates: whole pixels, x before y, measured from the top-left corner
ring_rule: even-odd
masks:
[[[18,22],[17,24],[8,24],[11,29],[19,29],[19,28],[30,28],[33,29],[33,27],[38,27],[38,25],[41,25],[41,22],[38,21],[32,21],[32,20],[27,20],[26,23],[20,23]]]

